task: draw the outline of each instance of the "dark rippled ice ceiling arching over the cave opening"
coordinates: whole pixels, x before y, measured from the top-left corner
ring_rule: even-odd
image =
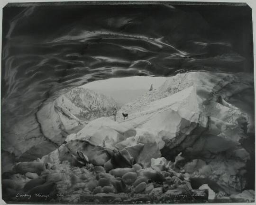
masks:
[[[2,34],[4,145],[15,139],[9,137],[13,126],[43,103],[91,81],[191,70],[253,73],[251,29],[247,5],[8,4]]]

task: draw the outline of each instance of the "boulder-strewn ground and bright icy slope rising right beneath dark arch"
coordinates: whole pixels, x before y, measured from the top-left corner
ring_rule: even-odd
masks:
[[[55,151],[2,174],[6,202],[254,202],[248,76],[171,77]],[[247,104],[247,105],[246,105]],[[129,113],[123,120],[120,113]],[[251,177],[251,179],[250,179]]]

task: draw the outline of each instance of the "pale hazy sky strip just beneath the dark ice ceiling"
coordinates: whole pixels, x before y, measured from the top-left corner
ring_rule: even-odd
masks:
[[[134,77],[120,77],[110,78],[107,80],[94,81],[82,87],[91,90],[142,90],[149,89],[153,83],[153,88],[158,88],[166,80],[166,77],[147,77],[147,76],[134,76]]]

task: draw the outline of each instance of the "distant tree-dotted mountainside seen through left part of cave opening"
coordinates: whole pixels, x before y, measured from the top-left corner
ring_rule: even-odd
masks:
[[[59,97],[57,102],[82,120],[109,117],[114,108],[119,108],[113,98],[82,87],[72,89]]]

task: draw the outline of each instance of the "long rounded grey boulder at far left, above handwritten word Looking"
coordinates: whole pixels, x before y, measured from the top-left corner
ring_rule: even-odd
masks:
[[[41,174],[45,169],[42,162],[18,162],[14,166],[14,170],[20,174],[26,174],[27,172]]]

